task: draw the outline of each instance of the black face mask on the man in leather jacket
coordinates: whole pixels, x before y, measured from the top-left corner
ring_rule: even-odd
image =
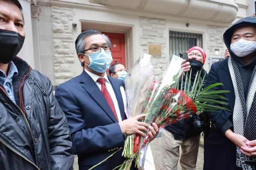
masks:
[[[0,63],[7,64],[20,52],[25,37],[14,31],[0,29]]]

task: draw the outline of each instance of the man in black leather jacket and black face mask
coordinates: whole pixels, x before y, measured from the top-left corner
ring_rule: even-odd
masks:
[[[24,39],[18,0],[0,0],[0,169],[73,169],[66,117],[45,77],[18,58]]]

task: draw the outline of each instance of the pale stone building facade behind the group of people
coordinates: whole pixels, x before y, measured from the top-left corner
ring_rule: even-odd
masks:
[[[224,31],[254,10],[252,0],[19,1],[25,9],[27,33],[19,55],[54,85],[81,73],[75,40],[82,30],[124,33],[127,69],[141,51],[149,52],[149,44],[161,45],[161,55],[155,56],[159,79],[170,55],[170,31],[201,34],[208,56],[204,67],[209,70],[210,57],[224,56]]]

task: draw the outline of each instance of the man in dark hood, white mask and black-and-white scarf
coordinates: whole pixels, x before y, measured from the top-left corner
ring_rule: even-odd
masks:
[[[253,170],[256,165],[256,18],[237,21],[223,34],[230,57],[213,63],[206,86],[228,99],[227,110],[208,112],[212,122],[204,140],[204,170]],[[223,100],[226,101],[226,100]]]

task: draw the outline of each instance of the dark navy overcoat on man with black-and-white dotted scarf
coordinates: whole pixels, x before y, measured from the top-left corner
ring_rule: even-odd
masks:
[[[212,126],[208,137],[204,141],[204,170],[236,170],[236,146],[221,131],[227,129],[230,125],[230,129],[233,129],[235,92],[228,69],[228,59],[212,64],[206,86],[218,82],[223,85],[215,87],[215,90],[230,91],[221,95],[226,97],[229,103],[228,106],[222,105],[222,107],[227,107],[231,111],[208,112]]]

